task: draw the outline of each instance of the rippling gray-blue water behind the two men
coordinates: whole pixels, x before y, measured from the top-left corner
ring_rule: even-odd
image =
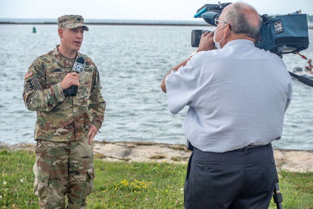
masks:
[[[36,112],[26,109],[23,77],[29,64],[59,44],[56,25],[2,24],[0,40],[0,141],[33,142]],[[160,89],[164,75],[195,50],[190,46],[192,29],[204,26],[90,25],[80,52],[98,67],[101,90],[107,103],[101,133],[95,140],[186,143],[181,124],[187,107],[178,115],[167,108]],[[312,40],[313,30],[309,30]],[[313,58],[310,46],[301,54]],[[284,55],[288,70],[303,67],[306,60]],[[269,75],[270,76],[270,75]],[[285,114],[282,139],[273,147],[313,150],[313,88],[294,83],[294,94]]]

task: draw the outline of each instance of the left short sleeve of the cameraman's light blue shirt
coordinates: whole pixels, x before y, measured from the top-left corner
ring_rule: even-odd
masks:
[[[197,79],[192,62],[172,71],[165,79],[168,108],[172,114],[177,114],[186,105],[192,106],[193,95],[197,89]]]

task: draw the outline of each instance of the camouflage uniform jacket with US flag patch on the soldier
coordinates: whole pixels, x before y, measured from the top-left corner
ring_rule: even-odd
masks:
[[[50,141],[84,139],[91,122],[99,130],[105,111],[100,77],[94,62],[77,52],[76,59],[85,59],[80,73],[77,95],[68,97],[60,82],[73,72],[73,64],[54,50],[36,58],[24,77],[23,99],[28,110],[37,111],[34,138]]]

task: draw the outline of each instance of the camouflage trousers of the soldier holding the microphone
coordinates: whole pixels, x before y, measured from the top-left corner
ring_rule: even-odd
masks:
[[[37,140],[33,167],[33,191],[40,208],[85,208],[86,197],[93,187],[95,170],[93,147],[89,139],[54,142]]]

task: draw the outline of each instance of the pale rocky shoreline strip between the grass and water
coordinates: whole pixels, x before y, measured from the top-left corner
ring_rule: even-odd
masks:
[[[105,161],[188,163],[191,151],[182,144],[153,142],[94,141],[94,156]],[[0,142],[0,150],[32,150],[35,144]],[[290,172],[313,172],[313,150],[274,149],[277,169]]]

